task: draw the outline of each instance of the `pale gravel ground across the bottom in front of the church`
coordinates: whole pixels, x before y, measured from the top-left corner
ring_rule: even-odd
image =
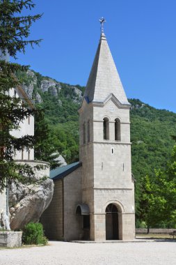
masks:
[[[176,264],[176,242],[68,243],[0,249],[0,265]]]

